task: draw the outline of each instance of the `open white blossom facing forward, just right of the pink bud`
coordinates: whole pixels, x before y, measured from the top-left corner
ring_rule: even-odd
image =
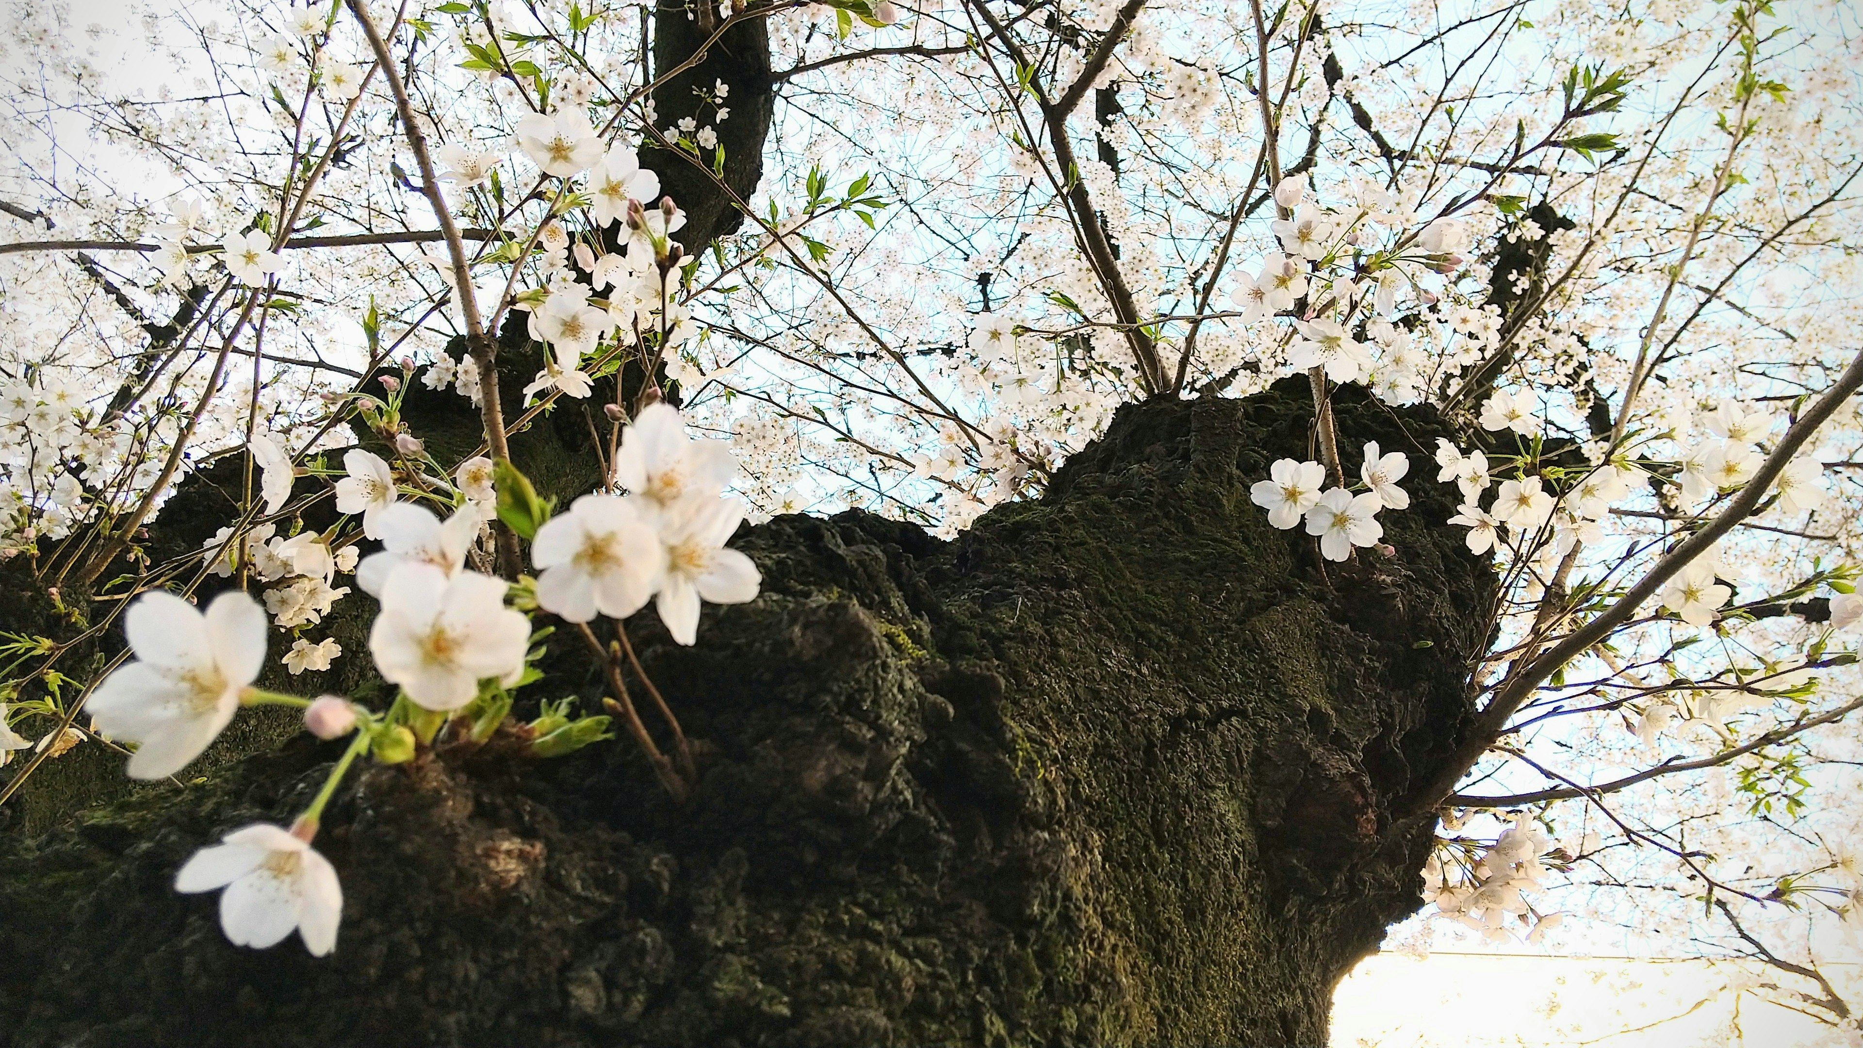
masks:
[[[447,578],[428,563],[395,569],[369,630],[382,677],[428,710],[464,707],[486,677],[518,683],[531,621],[505,606],[505,589],[503,580],[475,571]]]

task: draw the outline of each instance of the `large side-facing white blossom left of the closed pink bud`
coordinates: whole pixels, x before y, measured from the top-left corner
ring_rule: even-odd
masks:
[[[173,593],[143,593],[123,615],[136,662],[91,692],[84,709],[112,738],[140,742],[136,779],[160,779],[201,755],[238,710],[265,666],[265,612],[244,593],[222,593],[203,615]]]

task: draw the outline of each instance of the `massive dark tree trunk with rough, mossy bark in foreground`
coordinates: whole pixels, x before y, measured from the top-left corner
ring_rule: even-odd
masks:
[[[1442,433],[1336,410],[1353,470]],[[699,740],[689,804],[628,740],[371,766],[319,837],[328,958],[229,945],[173,876],[287,820],[339,742],[9,817],[0,1041],[1323,1044],[1334,981],[1418,906],[1433,826],[1390,811],[1466,729],[1494,578],[1421,470],[1395,556],[1321,571],[1248,502],[1310,427],[1304,380],[1153,401],[950,543],[866,513],[740,531],[755,602],[691,649],[635,621]],[[544,668],[533,701],[602,694],[566,643]]]

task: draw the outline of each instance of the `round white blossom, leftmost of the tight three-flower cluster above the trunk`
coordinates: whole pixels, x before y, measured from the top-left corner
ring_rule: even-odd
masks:
[[[596,614],[626,619],[667,574],[667,550],[633,500],[585,494],[551,517],[531,543],[537,606],[572,623]]]

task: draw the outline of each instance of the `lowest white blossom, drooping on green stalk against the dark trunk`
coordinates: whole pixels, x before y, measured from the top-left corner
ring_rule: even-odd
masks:
[[[233,945],[265,949],[292,929],[311,957],[337,945],[343,884],[330,860],[283,826],[253,822],[194,852],[175,875],[175,891],[220,895],[220,929]]]

